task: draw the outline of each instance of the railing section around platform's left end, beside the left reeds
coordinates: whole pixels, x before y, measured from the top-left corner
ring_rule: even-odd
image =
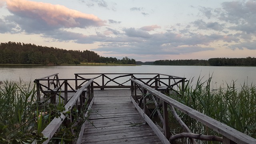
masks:
[[[58,74],[52,74],[50,76],[38,78],[34,80],[34,82],[36,83],[37,101],[40,103],[45,103],[48,102],[48,100],[50,99],[50,103],[56,103],[57,95],[66,104],[69,101],[68,93],[75,93],[78,90],[78,87],[74,86],[74,83],[77,81],[82,81],[82,85],[84,85],[85,82],[88,82],[89,80],[90,79],[60,79],[58,77]],[[81,87],[82,86],[80,86],[79,88]],[[82,92],[83,96],[85,95],[85,92],[86,90]],[[46,97],[44,101],[41,101],[42,96]]]

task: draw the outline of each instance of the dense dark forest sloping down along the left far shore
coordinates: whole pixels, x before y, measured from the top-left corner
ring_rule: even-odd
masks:
[[[128,57],[117,59],[102,57],[90,50],[64,50],[54,47],[36,46],[21,42],[0,44],[0,64],[80,64],[81,62],[136,64]]]

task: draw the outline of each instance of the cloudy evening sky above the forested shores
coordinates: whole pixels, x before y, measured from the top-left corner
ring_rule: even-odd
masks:
[[[256,0],[0,0],[0,42],[136,61],[256,57]]]

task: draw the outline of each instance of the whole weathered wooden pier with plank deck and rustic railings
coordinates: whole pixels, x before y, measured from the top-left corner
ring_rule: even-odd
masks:
[[[74,79],[60,79],[58,74],[52,74],[34,82],[40,104],[61,101],[65,104],[64,112],[86,108],[84,117],[88,120],[82,123],[78,138],[70,144],[176,144],[180,138],[191,144],[200,143],[199,140],[256,144],[256,139],[165,95],[181,94],[186,78],[166,74],[116,73],[75,74]],[[176,110],[217,132],[218,136],[190,132]],[[170,115],[184,132],[171,134]],[[64,114],[54,118],[42,131],[48,138],[44,144],[53,138],[60,125],[69,122],[73,122],[71,114],[70,118]]]

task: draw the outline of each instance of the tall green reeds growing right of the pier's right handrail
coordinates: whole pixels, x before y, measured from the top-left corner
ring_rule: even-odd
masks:
[[[192,79],[186,84],[184,92],[179,95],[170,94],[170,97],[256,138],[256,86],[244,83],[236,87],[235,81],[232,81],[231,84],[222,84],[217,88],[217,86],[211,86],[211,80],[211,76],[204,82],[198,78],[196,85],[193,85]],[[179,91],[181,90],[179,89]],[[177,113],[190,128],[191,132],[218,135],[186,114],[178,110]],[[175,122],[171,115],[169,120],[172,134],[182,132],[180,128],[176,127],[178,123]]]

